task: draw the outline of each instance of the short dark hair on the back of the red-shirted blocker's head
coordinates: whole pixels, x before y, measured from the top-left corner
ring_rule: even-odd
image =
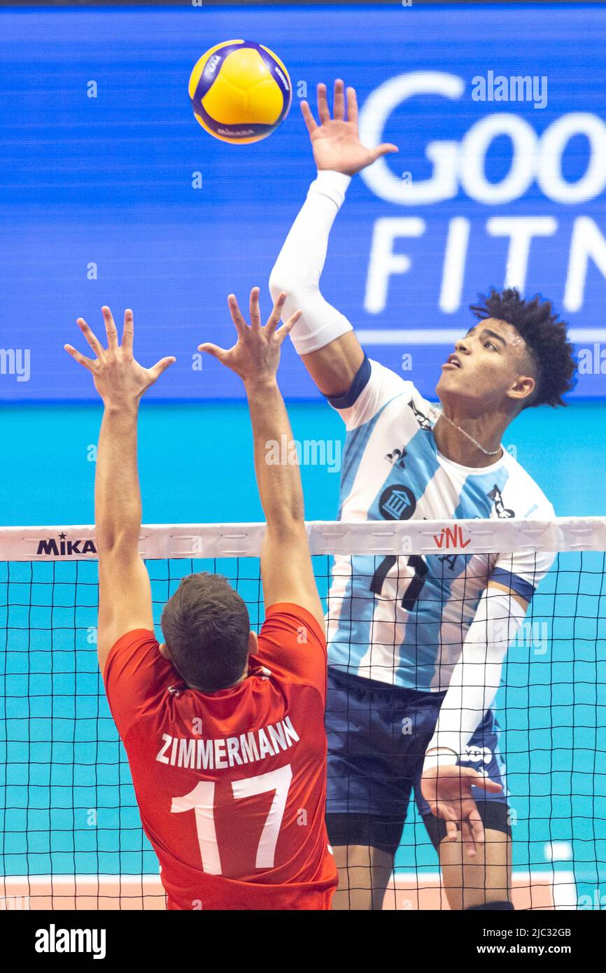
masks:
[[[214,693],[240,678],[250,618],[222,574],[202,571],[183,578],[164,605],[160,626],[174,667],[192,686]]]

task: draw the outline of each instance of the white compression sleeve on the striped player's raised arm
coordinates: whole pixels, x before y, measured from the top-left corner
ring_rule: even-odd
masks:
[[[291,331],[300,355],[317,351],[352,330],[347,318],[324,300],[319,287],[328,237],[350,182],[351,176],[342,172],[318,171],[269,275],[272,299],[280,291],[288,294],[282,319],[303,310]]]

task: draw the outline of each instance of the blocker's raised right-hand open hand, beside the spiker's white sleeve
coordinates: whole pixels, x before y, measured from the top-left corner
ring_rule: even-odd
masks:
[[[220,348],[217,344],[204,342],[198,345],[197,350],[206,351],[207,354],[217,358],[222,365],[239,375],[244,383],[275,378],[280,363],[282,342],[303,313],[301,310],[296,310],[288,321],[285,321],[282,327],[278,329],[285,300],[286,292],[282,291],[264,327],[261,324],[261,311],[259,309],[259,288],[253,287],[250,292],[249,327],[237,306],[235,295],[230,294],[228,305],[230,306],[233,325],[237,331],[237,342],[231,348]]]

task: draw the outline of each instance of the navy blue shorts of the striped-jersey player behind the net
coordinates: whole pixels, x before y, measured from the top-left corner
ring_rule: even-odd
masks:
[[[421,815],[433,817],[421,794],[420,777],[445,693],[420,693],[334,667],[328,671],[327,815],[400,817],[404,824],[413,791]],[[503,786],[498,794],[472,788],[480,810],[492,802],[507,809],[499,734],[488,710],[466,747],[467,756],[459,760]]]

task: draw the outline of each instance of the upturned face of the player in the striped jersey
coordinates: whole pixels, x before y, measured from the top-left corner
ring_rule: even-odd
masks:
[[[436,386],[441,401],[469,400],[499,406],[505,398],[523,397],[528,383],[526,343],[513,325],[488,317],[456,342],[442,366]],[[525,382],[520,379],[526,377]]]

